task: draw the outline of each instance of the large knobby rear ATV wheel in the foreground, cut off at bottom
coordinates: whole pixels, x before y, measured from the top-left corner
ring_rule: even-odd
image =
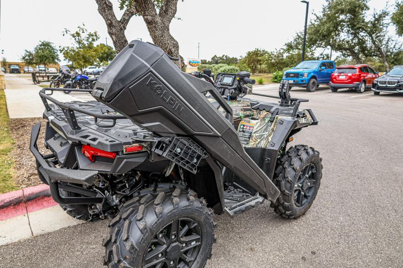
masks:
[[[215,242],[213,211],[193,191],[173,185],[140,191],[109,227],[104,265],[113,268],[204,267]]]

